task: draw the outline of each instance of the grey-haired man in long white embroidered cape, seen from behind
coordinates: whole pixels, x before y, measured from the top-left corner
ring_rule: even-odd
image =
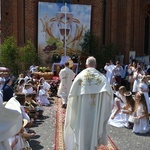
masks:
[[[86,60],[71,86],[64,126],[66,150],[94,150],[107,145],[107,121],[113,93],[106,77],[96,67],[96,59]]]

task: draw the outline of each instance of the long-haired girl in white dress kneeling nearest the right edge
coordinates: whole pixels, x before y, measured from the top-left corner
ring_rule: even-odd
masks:
[[[135,94],[135,119],[133,126],[134,133],[144,134],[149,131],[147,104],[143,93]]]

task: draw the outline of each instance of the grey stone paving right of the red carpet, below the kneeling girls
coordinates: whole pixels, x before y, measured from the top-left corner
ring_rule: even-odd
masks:
[[[119,150],[150,150],[150,134],[136,135],[132,129],[109,125],[109,135]]]

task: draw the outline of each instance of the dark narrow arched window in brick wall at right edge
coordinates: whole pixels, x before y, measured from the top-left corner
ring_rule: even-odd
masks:
[[[144,54],[150,54],[150,10],[146,12],[145,17]]]

